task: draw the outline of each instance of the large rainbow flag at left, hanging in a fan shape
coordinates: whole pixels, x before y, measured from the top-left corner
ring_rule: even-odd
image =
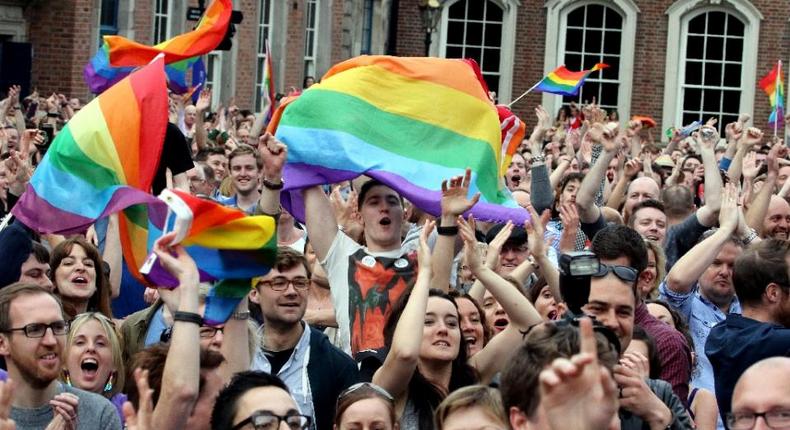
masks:
[[[84,231],[97,219],[151,201],[167,126],[164,60],[130,74],[58,133],[14,215],[46,233]]]

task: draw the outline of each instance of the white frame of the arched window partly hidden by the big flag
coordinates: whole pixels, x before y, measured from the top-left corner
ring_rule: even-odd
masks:
[[[449,0],[442,4],[442,17],[436,36],[431,41],[430,53],[445,57],[447,53],[447,22],[450,6],[462,0]],[[480,0],[471,0],[480,1]],[[513,61],[516,50],[516,31],[518,28],[519,0],[489,0],[502,8],[502,41],[499,50],[499,88],[489,88],[497,92],[498,102],[510,103],[513,97]],[[436,43],[436,40],[439,43]],[[482,65],[481,65],[482,67]]]

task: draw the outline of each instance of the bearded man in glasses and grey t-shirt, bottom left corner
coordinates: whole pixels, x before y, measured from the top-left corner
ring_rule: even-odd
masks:
[[[120,430],[109,400],[58,380],[68,330],[60,302],[44,288],[16,283],[0,290],[0,355],[15,382],[11,419],[18,430]]]

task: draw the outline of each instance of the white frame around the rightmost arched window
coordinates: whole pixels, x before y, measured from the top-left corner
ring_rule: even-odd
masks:
[[[748,0],[720,0],[716,5],[701,4],[698,0],[678,0],[667,9],[669,25],[667,31],[667,61],[664,73],[664,109],[662,126],[679,126],[683,118],[681,79],[685,73],[685,51],[688,38],[688,23],[704,12],[720,11],[735,15],[744,24],[743,60],[741,67],[741,103],[739,112],[752,114],[757,86],[757,47],[760,37],[760,21],[763,15]],[[683,62],[683,64],[681,64]],[[666,136],[662,138],[666,140]]]

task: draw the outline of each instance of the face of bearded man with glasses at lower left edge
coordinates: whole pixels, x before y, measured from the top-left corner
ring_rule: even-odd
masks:
[[[11,302],[9,319],[12,328],[52,324],[63,321],[63,312],[49,294],[29,294]],[[9,373],[19,375],[17,384],[43,389],[60,376],[65,341],[65,333],[55,335],[51,328],[39,338],[27,337],[23,331],[4,333],[0,335],[0,355],[5,357]]]

